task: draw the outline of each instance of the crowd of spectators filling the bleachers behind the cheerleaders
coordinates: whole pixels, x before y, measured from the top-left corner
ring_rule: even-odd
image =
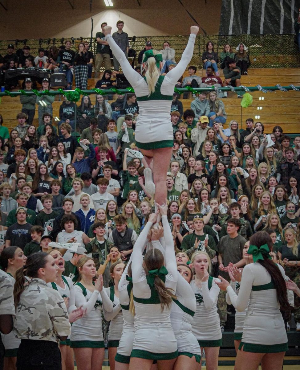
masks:
[[[122,31],[123,22],[119,22],[115,40],[119,40],[128,57],[128,35]],[[105,25],[103,23],[102,27]],[[104,90],[112,86],[127,87],[129,83],[119,73],[116,58],[113,59],[115,70],[111,72],[104,34],[97,33],[96,39],[99,46],[95,58],[97,76],[102,62],[105,65],[105,73],[96,87]],[[31,64],[35,63],[40,68],[50,68],[54,72],[59,68],[66,74],[68,88],[71,88],[71,70],[75,61],[76,87],[86,88],[93,63],[88,44],[80,43],[75,54],[67,40],[61,51],[52,47],[52,54],[45,58],[44,51],[39,50],[34,60],[26,47],[24,57],[17,60],[11,46],[8,45],[10,57],[4,57],[4,63],[9,64],[13,60],[15,66],[23,67],[26,57],[26,66],[32,59]],[[144,51],[151,50],[151,47],[151,42],[147,41],[145,50],[142,50],[142,60]],[[238,86],[241,74],[247,74],[250,65],[247,50],[241,43],[234,54],[230,45],[225,45],[220,55],[225,76],[222,82],[218,73],[219,58],[214,52],[214,44],[209,41],[202,55],[207,76],[202,79],[196,76],[197,68],[190,65],[189,77],[181,79],[177,85]],[[166,74],[175,67],[176,56],[167,41],[160,52],[166,61],[161,73]],[[139,66],[136,70],[140,72]],[[33,84],[31,78],[26,78],[25,91],[31,91]],[[14,86],[15,83],[11,85]],[[42,89],[49,88],[50,81],[46,78],[42,81]],[[230,281],[229,266],[244,266],[245,244],[253,234],[266,231],[272,238],[270,255],[299,286],[300,136],[292,142],[280,126],[275,126],[272,132],[265,132],[263,123],[254,122],[253,118],[246,120],[245,130],[235,120],[231,120],[229,128],[225,129],[225,100],[221,100],[224,97],[223,93],[202,92],[193,96],[190,109],[183,110],[179,95],[173,95],[170,122],[174,140],[166,180],[168,205],[166,215],[161,209],[161,217],[167,218],[168,225],[164,221],[164,226],[170,228],[173,236],[172,248],[174,246],[177,262],[194,262],[197,259],[194,253],[201,251],[211,264],[211,275],[221,275]],[[22,111],[18,112],[16,127],[10,132],[5,127],[5,112],[0,115],[0,263],[7,273],[16,277],[17,268],[24,265],[25,257],[31,256],[35,264],[39,263],[37,259],[34,261],[37,258],[35,253],[51,251],[49,243],[79,243],[71,252],[63,250],[61,253],[54,249],[51,255],[60,269],[59,281],[67,281],[64,285],[83,279],[93,291],[93,276],[84,269],[84,266],[89,266],[86,265],[89,261],[94,266],[92,273],[103,275],[103,282],[98,279],[95,283],[95,300],[92,296],[89,299],[93,305],[103,305],[104,318],[111,320],[111,326],[112,323],[116,325],[117,334],[113,331],[108,334],[110,361],[113,363],[123,317],[119,314],[120,305],[118,311],[114,308],[114,313],[110,312],[111,302],[105,301],[105,294],[110,296],[114,307],[118,305],[114,294],[122,272],[117,270],[117,266],[123,271],[149,219],[151,223],[156,220],[153,219],[153,194],[145,186],[144,169],[147,164],[135,139],[139,117],[136,95],[118,95],[111,104],[109,100],[112,96],[86,95],[82,96],[80,105],[76,105],[65,98],[55,120],[52,116],[54,98],[48,95],[21,96]],[[35,104],[38,104],[38,127],[33,124]],[[153,241],[156,240],[153,235]],[[231,243],[231,248],[225,248],[226,243]],[[92,259],[86,259],[87,255]],[[16,261],[14,266],[11,261]],[[200,270],[195,268],[195,271],[195,279],[204,278],[203,271],[202,275]],[[113,286],[115,290],[111,289]],[[57,286],[54,289],[59,290]],[[78,285],[76,289],[75,294],[82,295],[78,302],[87,308],[83,299],[86,290]],[[226,301],[225,295],[226,292],[220,292],[217,303],[221,332],[227,320],[228,299]],[[296,330],[300,331],[299,297],[294,298],[293,305],[284,313],[286,327],[289,330],[293,311]],[[91,311],[91,307],[88,310]],[[101,319],[101,313],[99,317]],[[117,326],[118,320],[122,321],[120,327]],[[83,330],[84,322],[79,322],[72,326],[74,342],[78,340],[75,337],[80,336],[78,330]],[[68,333],[67,329],[62,330],[59,336],[66,337],[65,333]],[[19,343],[14,342],[14,346]],[[11,342],[8,340],[6,344],[11,345]],[[62,346],[68,347],[68,344],[64,342]],[[16,350],[16,347],[8,349]],[[80,346],[74,344],[77,366],[81,370],[84,369],[84,361],[79,349]],[[22,350],[25,353],[23,347]],[[12,353],[14,356],[10,357],[16,357],[16,352]],[[62,352],[65,364],[70,364],[68,356]]]

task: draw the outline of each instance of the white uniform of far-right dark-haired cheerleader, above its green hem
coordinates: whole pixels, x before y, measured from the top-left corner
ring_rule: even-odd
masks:
[[[282,266],[277,266],[284,277]],[[236,295],[231,286],[227,287],[227,292],[233,306],[239,312],[245,310],[248,305],[242,335],[243,343],[262,345],[287,343],[274,283],[260,263],[250,263],[244,267],[239,295]]]

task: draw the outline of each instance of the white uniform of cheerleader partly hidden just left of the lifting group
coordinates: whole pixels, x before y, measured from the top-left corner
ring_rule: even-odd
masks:
[[[115,289],[113,286],[105,288],[109,299],[113,303],[113,310],[107,312],[103,307],[103,314],[106,321],[110,321],[108,328],[108,340],[120,340],[123,330],[123,313],[120,305],[119,298],[115,295]]]

